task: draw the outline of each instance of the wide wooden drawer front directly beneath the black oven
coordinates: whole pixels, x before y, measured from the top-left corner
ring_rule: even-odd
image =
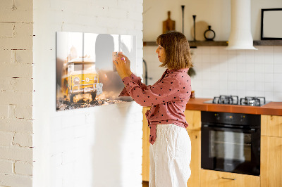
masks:
[[[259,176],[201,169],[201,187],[259,187]]]

